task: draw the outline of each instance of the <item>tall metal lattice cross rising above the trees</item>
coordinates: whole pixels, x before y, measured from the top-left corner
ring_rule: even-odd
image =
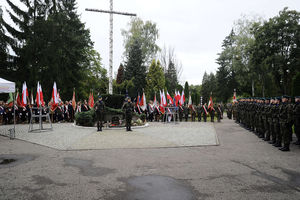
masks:
[[[126,15],[126,16],[136,16],[133,13],[126,13],[126,12],[117,12],[113,11],[113,0],[110,0],[110,10],[99,10],[99,9],[90,9],[86,8],[86,11],[92,12],[101,12],[101,13],[109,13],[109,23],[110,23],[110,30],[109,30],[109,84],[108,84],[108,93],[113,93],[112,87],[112,74],[113,74],[113,14],[117,15]]]

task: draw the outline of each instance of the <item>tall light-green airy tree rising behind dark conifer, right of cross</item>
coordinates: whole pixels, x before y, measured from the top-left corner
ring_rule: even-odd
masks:
[[[144,22],[137,17],[132,18],[129,23],[129,29],[122,30],[122,35],[124,37],[125,47],[124,56],[126,58],[129,56],[132,46],[138,41],[141,46],[143,64],[150,66],[159,51],[159,46],[156,44],[156,40],[159,36],[156,23],[151,21]]]

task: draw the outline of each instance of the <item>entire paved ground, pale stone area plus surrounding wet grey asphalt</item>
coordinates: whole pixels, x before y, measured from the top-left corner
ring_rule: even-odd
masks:
[[[24,126],[24,127],[22,127]],[[1,127],[0,127],[1,128]],[[300,148],[281,152],[232,120],[133,132],[55,124],[0,136],[0,199],[299,199]],[[176,148],[174,148],[176,147]]]

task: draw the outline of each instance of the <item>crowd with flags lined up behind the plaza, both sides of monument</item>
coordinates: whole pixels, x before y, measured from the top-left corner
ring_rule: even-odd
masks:
[[[207,121],[207,117],[210,117],[210,121],[214,122],[215,116],[217,121],[223,118],[223,106],[218,104],[216,106],[207,106],[204,105],[187,105],[174,106],[168,104],[166,107],[160,107],[155,105],[153,101],[150,101],[146,109],[142,109],[139,105],[133,102],[134,112],[137,114],[144,114],[144,119],[152,121],[163,121],[171,122],[174,121]],[[26,106],[19,105],[17,102],[13,104],[7,104],[4,101],[0,101],[0,125],[1,124],[12,124],[14,121],[14,112],[16,116],[16,123],[30,123],[31,115],[38,115],[39,109],[31,109],[36,107],[35,104],[28,103]],[[77,112],[86,112],[92,109],[92,106],[88,104],[86,100],[82,103],[81,101],[77,102],[76,106],[72,105],[72,101],[60,102],[59,105],[54,108],[51,106],[51,102],[48,103],[48,106],[44,106],[42,109],[42,114],[45,115],[49,113],[52,123],[60,122],[74,122],[74,116]],[[38,118],[34,119],[38,121]],[[43,120],[46,120],[44,117]]]

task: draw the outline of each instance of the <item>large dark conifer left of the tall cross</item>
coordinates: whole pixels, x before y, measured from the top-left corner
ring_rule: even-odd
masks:
[[[84,94],[80,88],[87,77],[92,42],[77,14],[75,0],[20,1],[24,9],[7,0],[15,25],[3,21],[13,50],[11,67],[6,68],[10,79],[19,86],[27,81],[28,88],[40,81],[46,100],[54,81],[62,87],[63,99],[72,97],[74,87],[79,89],[77,94]]]

